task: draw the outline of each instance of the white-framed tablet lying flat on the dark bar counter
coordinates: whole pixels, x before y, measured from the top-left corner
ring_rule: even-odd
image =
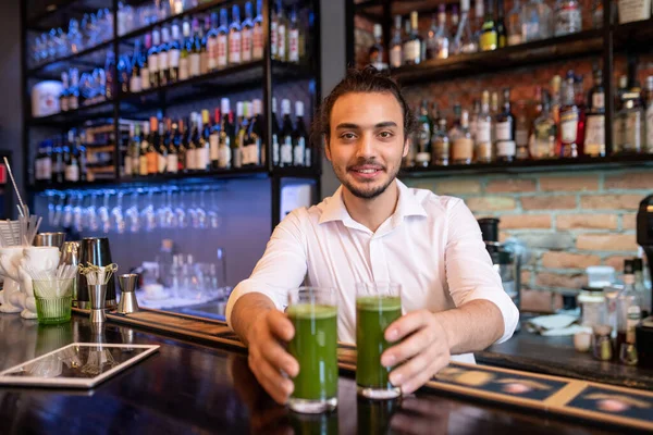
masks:
[[[0,372],[0,385],[93,388],[159,346],[73,343]]]

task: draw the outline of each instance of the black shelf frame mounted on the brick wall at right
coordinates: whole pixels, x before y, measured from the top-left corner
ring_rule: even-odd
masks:
[[[347,0],[346,5],[346,50],[347,64],[355,64],[356,15],[380,23],[383,27],[384,44],[387,47],[393,14],[406,15],[411,10],[420,13],[434,11],[439,1],[399,0]],[[603,10],[613,11],[612,2],[603,0]],[[502,71],[542,65],[560,60],[581,59],[600,55],[603,64],[603,87],[605,89],[605,140],[606,149],[612,149],[614,121],[614,59],[618,53],[628,57],[650,52],[653,40],[653,18],[628,24],[617,24],[616,12],[604,13],[603,26],[563,37],[509,46],[494,51],[453,55],[444,60],[428,60],[419,65],[391,70],[391,74],[405,87],[418,87],[427,83],[438,83],[452,78],[494,74]],[[405,177],[431,177],[489,173],[520,173],[531,171],[565,170],[608,170],[617,166],[653,165],[652,156],[608,156],[605,158],[555,159],[513,163],[491,163],[472,165],[449,165],[442,167],[404,169]]]

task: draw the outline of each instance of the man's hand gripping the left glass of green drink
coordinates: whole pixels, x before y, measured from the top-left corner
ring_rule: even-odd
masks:
[[[279,310],[260,314],[248,331],[249,368],[257,381],[280,405],[287,401],[294,385],[289,377],[299,373],[299,363],[285,350],[283,343],[295,335],[293,324]]]

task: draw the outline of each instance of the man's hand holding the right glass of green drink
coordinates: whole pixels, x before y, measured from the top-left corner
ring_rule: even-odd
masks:
[[[410,394],[424,385],[449,362],[446,331],[438,314],[428,310],[408,313],[385,330],[390,343],[404,339],[381,355],[384,366],[397,366],[390,373],[390,382]],[[401,365],[399,365],[401,364]]]

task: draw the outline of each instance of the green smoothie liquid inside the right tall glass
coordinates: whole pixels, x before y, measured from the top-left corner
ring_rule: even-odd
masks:
[[[356,299],[356,384],[368,388],[392,388],[391,369],[381,365],[381,353],[391,345],[383,334],[402,316],[398,296],[359,297]]]

